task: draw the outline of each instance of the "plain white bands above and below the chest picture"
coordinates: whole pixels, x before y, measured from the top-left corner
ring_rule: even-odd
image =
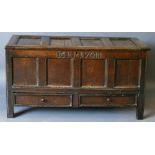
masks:
[[[153,32],[152,0],[0,0],[4,32]],[[0,154],[154,155],[154,123],[1,123]]]

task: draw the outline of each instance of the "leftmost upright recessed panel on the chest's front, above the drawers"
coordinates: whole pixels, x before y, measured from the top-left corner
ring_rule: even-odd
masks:
[[[13,84],[28,86],[37,83],[35,58],[13,58]]]

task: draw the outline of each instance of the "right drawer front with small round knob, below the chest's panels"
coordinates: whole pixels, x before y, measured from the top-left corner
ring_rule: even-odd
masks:
[[[81,107],[132,106],[136,104],[135,96],[80,96]]]

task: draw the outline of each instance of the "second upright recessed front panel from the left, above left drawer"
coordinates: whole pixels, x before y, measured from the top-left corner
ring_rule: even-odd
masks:
[[[47,83],[51,86],[72,86],[73,63],[71,59],[48,59]]]

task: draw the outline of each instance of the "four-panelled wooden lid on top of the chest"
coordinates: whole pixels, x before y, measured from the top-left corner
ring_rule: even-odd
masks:
[[[150,50],[142,41],[136,38],[23,35],[13,35],[6,48]]]

